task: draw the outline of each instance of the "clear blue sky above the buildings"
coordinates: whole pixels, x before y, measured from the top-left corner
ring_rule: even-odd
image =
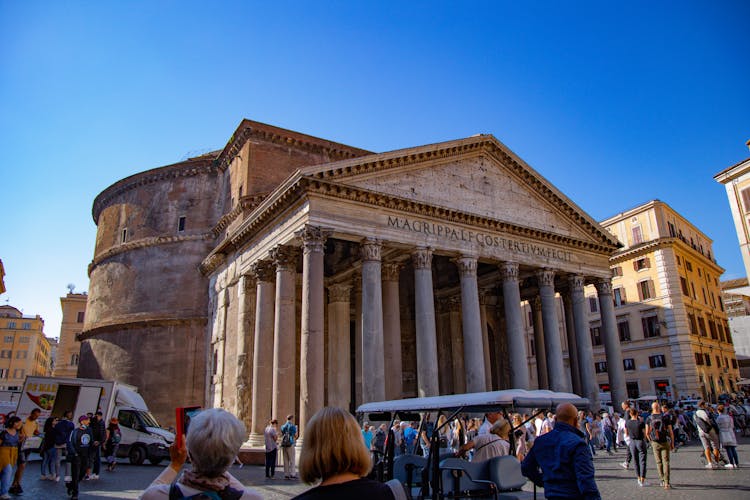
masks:
[[[91,205],[243,117],[370,149],[491,133],[598,220],[653,198],[744,275],[750,3],[0,0],[0,303],[59,335]],[[272,5],[271,5],[272,4]]]

